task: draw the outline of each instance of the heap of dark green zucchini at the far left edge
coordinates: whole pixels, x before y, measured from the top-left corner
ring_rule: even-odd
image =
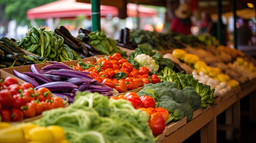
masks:
[[[0,38],[0,60],[0,69],[45,62],[44,58],[26,54],[7,37]]]

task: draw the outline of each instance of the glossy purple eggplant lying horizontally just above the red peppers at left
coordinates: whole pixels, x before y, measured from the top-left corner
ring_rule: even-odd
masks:
[[[77,85],[74,85],[68,82],[50,82],[50,83],[45,83],[43,85],[40,85],[35,89],[42,88],[42,87],[48,88],[50,91],[62,91],[62,90],[78,88]]]

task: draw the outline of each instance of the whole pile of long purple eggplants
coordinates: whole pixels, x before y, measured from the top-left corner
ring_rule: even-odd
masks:
[[[92,80],[87,71],[76,71],[62,63],[49,62],[52,65],[38,70],[35,65],[30,66],[31,72],[20,73],[13,70],[14,75],[31,83],[35,89],[48,88],[54,95],[62,99],[74,101],[76,91],[98,92],[103,95],[112,95],[112,88]]]

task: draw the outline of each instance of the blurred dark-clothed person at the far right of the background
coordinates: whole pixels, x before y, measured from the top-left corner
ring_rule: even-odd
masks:
[[[238,45],[252,45],[252,30],[248,19],[243,19],[242,26],[238,28]]]

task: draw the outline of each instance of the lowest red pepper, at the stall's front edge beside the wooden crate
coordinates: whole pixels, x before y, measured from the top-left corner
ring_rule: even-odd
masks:
[[[153,135],[160,135],[165,129],[165,119],[159,112],[153,113],[149,120],[149,126]]]

